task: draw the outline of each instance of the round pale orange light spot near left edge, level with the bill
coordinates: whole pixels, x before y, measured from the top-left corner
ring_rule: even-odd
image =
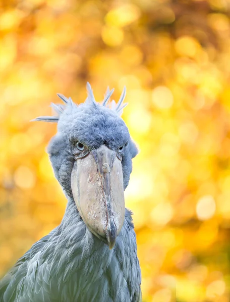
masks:
[[[21,189],[31,189],[35,185],[34,172],[26,166],[20,166],[15,171],[14,180]]]

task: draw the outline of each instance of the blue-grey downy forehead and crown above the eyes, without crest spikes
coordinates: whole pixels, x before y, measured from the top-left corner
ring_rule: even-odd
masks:
[[[93,105],[80,105],[71,114],[63,115],[59,128],[70,140],[98,147],[103,141],[116,147],[129,139],[129,131],[116,113],[108,108]]]

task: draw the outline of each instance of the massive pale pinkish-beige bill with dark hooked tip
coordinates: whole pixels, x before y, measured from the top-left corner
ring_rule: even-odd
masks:
[[[116,152],[102,145],[77,159],[71,188],[87,228],[113,248],[125,218],[123,171]]]

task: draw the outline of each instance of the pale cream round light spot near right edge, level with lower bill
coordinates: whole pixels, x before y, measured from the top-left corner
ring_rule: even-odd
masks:
[[[211,195],[201,197],[196,206],[198,219],[207,220],[211,218],[215,213],[215,209],[215,200]]]

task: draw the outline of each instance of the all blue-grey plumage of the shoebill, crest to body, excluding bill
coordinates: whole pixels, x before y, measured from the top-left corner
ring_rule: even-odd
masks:
[[[87,84],[85,103],[73,103],[58,95],[64,105],[52,104],[56,117],[38,117],[37,121],[57,122],[57,134],[48,146],[55,177],[67,199],[63,220],[57,228],[36,242],[0,281],[0,302],[139,302],[141,271],[137,258],[136,235],[131,212],[126,209],[122,230],[112,250],[98,239],[82,220],[71,189],[71,171],[75,162],[76,141],[87,152],[106,145],[121,152],[124,190],[132,171],[132,158],[138,151],[124,121],[125,90],[113,105],[95,101]],[[83,156],[85,156],[83,152]],[[83,157],[82,156],[82,157]]]

